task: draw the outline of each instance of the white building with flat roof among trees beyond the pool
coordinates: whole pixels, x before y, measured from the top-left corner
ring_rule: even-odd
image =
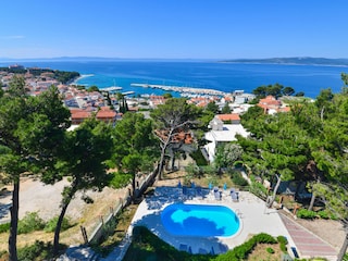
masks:
[[[210,123],[210,132],[206,133],[204,138],[208,144],[204,149],[208,153],[209,161],[213,162],[215,158],[216,147],[223,142],[231,142],[236,139],[236,135],[239,134],[247,137],[249,133],[241,126],[240,123],[224,124],[217,116],[215,116]]]

